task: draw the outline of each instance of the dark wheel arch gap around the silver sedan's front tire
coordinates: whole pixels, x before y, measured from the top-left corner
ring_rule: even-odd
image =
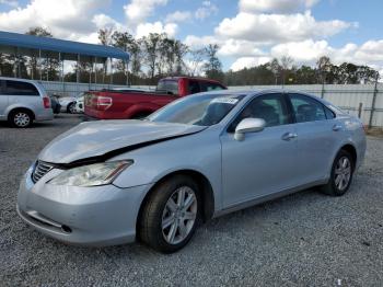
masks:
[[[162,176],[151,188],[150,191],[144,195],[136,220],[136,230],[139,228],[139,221],[141,218],[141,214],[143,210],[143,207],[148,203],[148,199],[150,195],[154,192],[155,187],[161,184],[162,182],[175,176],[175,175],[186,175],[190,176],[200,187],[201,197],[202,197],[202,220],[207,221],[210,218],[212,218],[214,214],[214,194],[212,190],[212,185],[210,181],[200,172],[196,170],[185,169],[185,170],[177,170],[173,171],[171,173],[167,173],[166,175]]]

